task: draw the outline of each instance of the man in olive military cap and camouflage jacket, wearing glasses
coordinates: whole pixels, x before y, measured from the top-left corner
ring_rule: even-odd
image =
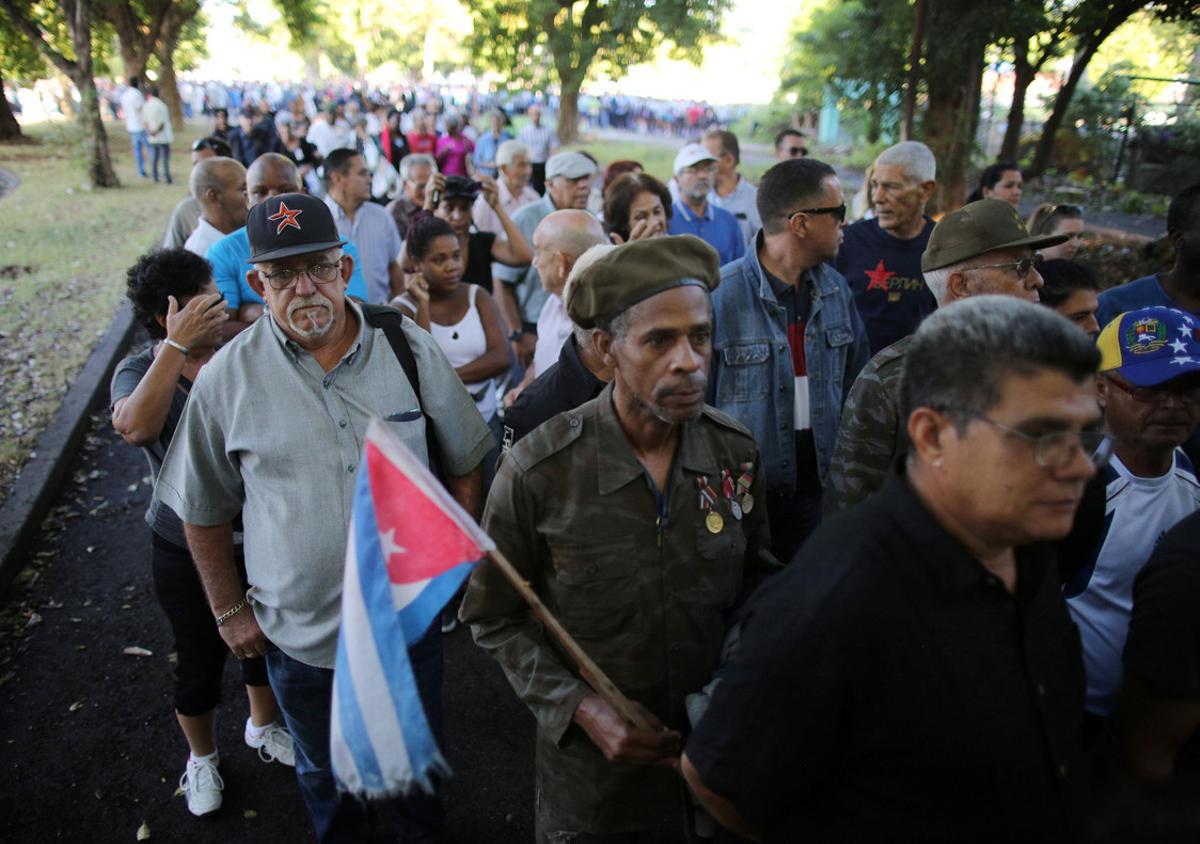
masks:
[[[1042,287],[1037,250],[1063,240],[1061,234],[1031,237],[1007,202],[979,199],[934,227],[922,273],[938,307],[989,293],[1036,303]],[[880,489],[907,449],[900,375],[911,342],[908,335],[871,358],[850,389],[829,467],[826,513],[844,510]]]

